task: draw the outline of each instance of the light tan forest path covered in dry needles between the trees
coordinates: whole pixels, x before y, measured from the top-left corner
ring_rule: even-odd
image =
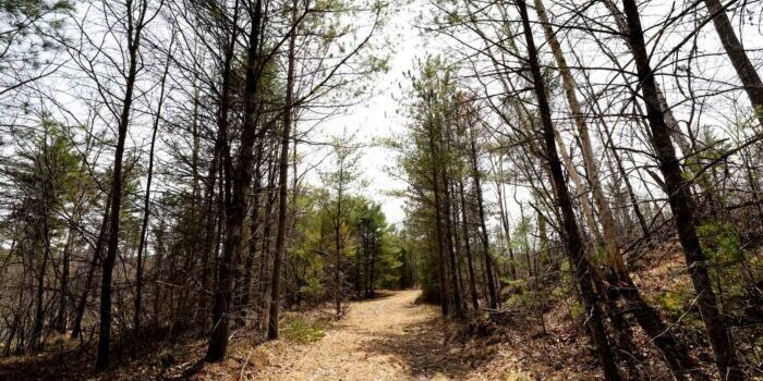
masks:
[[[269,359],[257,380],[463,380],[472,373],[461,348],[444,344],[436,306],[416,305],[420,291],[385,292],[353,303],[322,340]]]

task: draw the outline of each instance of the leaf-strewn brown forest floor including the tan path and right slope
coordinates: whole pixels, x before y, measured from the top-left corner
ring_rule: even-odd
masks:
[[[642,262],[637,282],[653,304],[666,291],[689,287],[676,243]],[[417,303],[417,290],[380,291],[375,298],[348,302],[340,320],[328,305],[286,311],[280,340],[263,343],[251,327],[235,329],[226,359],[216,364],[201,361],[206,336],[172,334],[136,353],[116,351],[112,368],[96,373],[93,346],[63,339],[59,349],[51,343],[43,353],[0,358],[0,380],[601,379],[582,324],[571,317],[573,299],[520,308],[509,305],[512,297],[506,292],[500,314],[470,316],[463,322],[441,318],[438,306]],[[691,339],[700,336],[697,328],[685,330],[688,335],[681,340],[690,343],[693,357],[701,360],[698,370],[705,374],[698,380],[712,379],[708,348]],[[647,337],[639,330],[633,333],[645,359],[639,371],[649,376],[641,378],[669,379]]]

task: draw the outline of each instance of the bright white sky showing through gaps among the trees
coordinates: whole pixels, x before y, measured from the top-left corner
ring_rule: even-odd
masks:
[[[380,73],[376,76],[375,81],[373,82],[372,89],[374,95],[368,99],[365,99],[362,103],[343,110],[341,114],[324,121],[312,134],[312,137],[318,142],[326,142],[328,140],[329,136],[339,136],[344,131],[349,131],[351,133],[354,132],[356,134],[359,143],[367,147],[362,149],[363,157],[361,159],[360,168],[363,172],[364,180],[367,181],[368,184],[367,186],[358,189],[358,192],[380,202],[388,221],[391,223],[399,223],[404,220],[404,212],[402,209],[404,198],[389,196],[388,192],[402,190],[405,188],[405,184],[395,179],[395,176],[389,175],[386,171],[388,167],[396,164],[395,153],[380,147],[370,147],[370,145],[379,138],[389,138],[393,137],[395,135],[399,136],[404,132],[404,126],[408,123],[408,120],[404,115],[399,113],[399,110],[402,105],[404,105],[401,103],[401,101],[402,97],[408,93],[409,81],[404,78],[403,73],[413,71],[415,67],[415,61],[423,60],[427,54],[443,54],[447,61],[449,59],[456,59],[457,57],[453,56],[458,56],[458,53],[463,53],[465,51],[464,48],[459,49],[459,47],[456,46],[456,41],[446,38],[443,35],[422,35],[417,26],[420,26],[419,23],[422,19],[427,21],[431,17],[431,7],[428,3],[429,0],[400,0],[399,3],[395,4],[396,9],[390,12],[387,23],[380,33],[383,37],[388,38],[391,42],[390,46],[382,49],[384,51],[379,51],[379,53],[389,53],[389,71],[386,73]],[[642,14],[644,20],[647,21],[645,24],[653,24],[655,20],[664,16],[664,12],[661,12],[661,7],[670,7],[671,4],[673,2],[667,0],[651,2]],[[547,0],[546,5],[549,8],[549,10],[554,10],[553,1]],[[533,16],[531,15],[531,17]],[[738,19],[738,15],[735,15],[734,22],[735,25],[740,28],[740,25],[737,24]],[[756,17],[755,20],[759,21],[760,17]],[[748,48],[754,47],[755,49],[763,49],[763,46],[761,45],[763,44],[763,39],[760,38],[763,32],[753,28],[752,25],[741,27],[741,29],[743,30],[743,33],[741,33],[741,37]],[[670,35],[669,37],[676,39],[681,38],[681,35],[682,33],[678,33]],[[536,42],[540,42],[540,33],[536,34]],[[573,48],[576,50],[584,50],[584,48],[582,48],[584,44],[577,39],[576,41],[577,44],[581,44],[581,46],[576,46]],[[564,44],[566,45],[568,42],[566,41]],[[450,45],[450,47],[448,47],[448,45]],[[703,34],[701,34],[699,45],[703,48],[703,50],[711,52],[722,50],[712,25],[706,25],[703,27]],[[452,50],[449,50],[449,48]],[[566,46],[566,48],[569,49],[570,47]],[[448,53],[448,51],[450,53]],[[760,50],[755,57],[760,58]],[[571,57],[568,59],[571,60]],[[591,59],[593,61],[596,58]],[[699,66],[699,71],[711,78],[715,78],[717,74],[715,73],[716,71],[728,71],[730,67],[730,64],[725,57],[723,57],[723,54],[719,54],[716,61],[710,61],[710,63],[717,63],[717,65],[702,65]],[[723,77],[723,75],[720,77]],[[731,79],[731,82],[734,82],[735,74],[729,72],[728,77]],[[76,78],[68,79],[73,81]],[[49,81],[55,81],[55,78],[50,78]],[[701,83],[698,81],[697,85],[699,86]],[[674,103],[676,99],[680,99],[678,97],[681,97],[680,94],[676,94],[677,91],[674,89],[674,86],[670,86],[669,83],[664,86],[664,90],[668,93],[668,97],[670,97],[670,93],[674,94],[675,98],[669,99]],[[737,91],[730,94],[728,97],[738,97],[739,95],[740,91]],[[746,96],[741,95],[740,98],[742,102],[747,105]],[[59,98],[58,100],[64,103],[66,102],[66,98]],[[723,120],[724,116],[727,116],[729,113],[727,112],[728,99],[726,102],[718,100],[723,99],[716,97],[712,102],[708,102],[707,107],[714,107],[715,109],[703,114],[703,123],[712,122],[722,124],[718,121]],[[566,105],[559,103],[558,107],[564,109]],[[686,109],[686,107],[683,107],[683,109]],[[680,113],[680,109],[678,112]],[[135,119],[137,118],[138,116],[135,116]],[[713,120],[714,118],[715,120]],[[145,146],[144,144],[141,144],[141,142],[145,143],[144,137],[146,130],[145,127],[142,127],[141,124],[148,124],[146,121],[140,121],[140,123],[135,124],[135,127],[131,127],[131,145]],[[301,153],[304,153],[306,150],[308,149],[306,149],[304,146],[300,148]],[[311,153],[307,160],[312,162],[318,161],[324,156],[325,152],[319,152],[316,155]],[[105,159],[104,162],[108,163],[110,161]],[[329,164],[330,160],[326,160],[324,163]],[[303,168],[301,170],[304,171],[305,169],[306,168]],[[317,184],[317,177],[318,176],[313,173],[308,176],[308,181],[313,184]],[[494,193],[494,187],[495,185],[493,183],[485,184],[487,198],[493,196],[491,194]],[[510,199],[511,197],[507,198]]]

